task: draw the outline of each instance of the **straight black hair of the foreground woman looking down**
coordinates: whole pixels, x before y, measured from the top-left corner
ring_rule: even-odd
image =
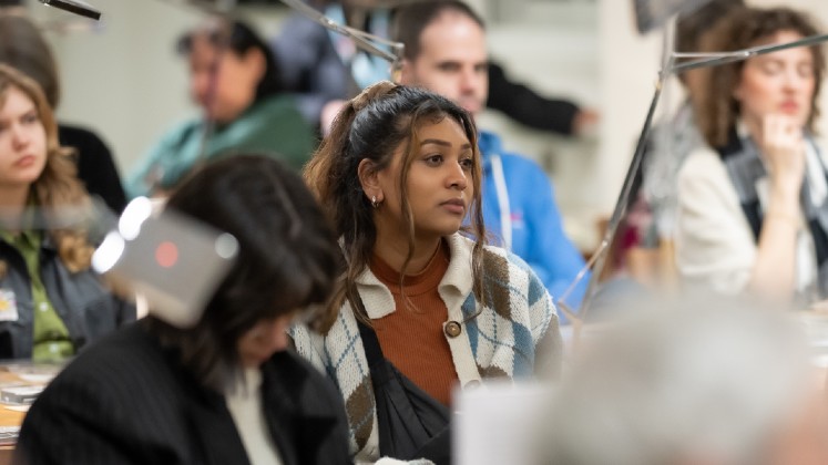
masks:
[[[147,324],[206,385],[222,389],[239,366],[236,344],[257,322],[304,311],[311,326],[334,317],[324,303],[341,254],[301,178],[262,155],[221,159],[195,172],[166,208],[233,235],[239,254],[193,329]],[[318,311],[320,311],[319,313]]]

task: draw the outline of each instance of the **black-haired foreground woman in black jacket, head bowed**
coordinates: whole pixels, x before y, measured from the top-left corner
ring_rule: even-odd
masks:
[[[39,395],[19,464],[339,465],[336,389],[286,350],[334,287],[336,239],[301,178],[239,154],[195,173],[166,208],[231,234],[238,255],[192,328],[154,312],[89,348]]]

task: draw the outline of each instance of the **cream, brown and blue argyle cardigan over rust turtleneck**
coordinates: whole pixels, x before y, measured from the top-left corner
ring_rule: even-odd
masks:
[[[487,246],[483,287],[493,307],[483,306],[472,292],[473,242],[459,234],[447,240],[451,259],[438,292],[448,308],[448,321],[462,324],[460,335],[446,337],[460,385],[477,384],[473,382],[488,378],[532,376],[535,348],[544,337],[548,338],[544,350],[549,348],[555,359],[552,362],[560,364],[562,340],[558,313],[534,271],[515,255]],[[360,275],[357,287],[371,319],[396,310],[391,292],[370,270]],[[355,459],[377,461],[379,436],[374,390],[350,304],[343,306],[327,335],[321,337],[304,326],[292,328],[290,335],[297,352],[327,373],[339,388],[346,403],[350,452]]]

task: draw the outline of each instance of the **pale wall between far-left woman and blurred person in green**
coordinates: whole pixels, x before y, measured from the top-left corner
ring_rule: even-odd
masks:
[[[185,69],[173,43],[196,16],[155,0],[92,3],[103,12],[96,30],[48,33],[63,81],[59,117],[94,127],[124,174],[150,142],[188,108]],[[37,10],[52,19],[71,18],[48,8]]]

